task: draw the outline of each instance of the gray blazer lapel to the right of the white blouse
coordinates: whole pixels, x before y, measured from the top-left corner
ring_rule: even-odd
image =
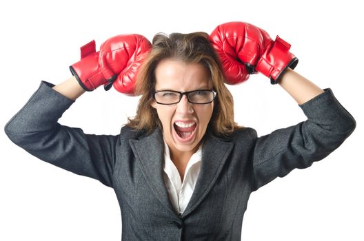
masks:
[[[225,142],[212,135],[206,136],[202,147],[201,171],[191,200],[182,214],[183,217],[193,211],[212,189],[233,146],[233,143]]]

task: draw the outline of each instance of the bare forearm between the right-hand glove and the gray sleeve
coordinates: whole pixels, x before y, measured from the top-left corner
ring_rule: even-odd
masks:
[[[310,101],[324,92],[320,87],[289,67],[283,72],[278,83],[299,105]]]

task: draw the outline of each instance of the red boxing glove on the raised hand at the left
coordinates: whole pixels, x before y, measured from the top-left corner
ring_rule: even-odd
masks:
[[[83,89],[92,91],[104,85],[124,94],[134,94],[136,74],[150,51],[148,39],[139,34],[117,35],[105,41],[96,52],[95,42],[81,47],[81,61],[70,66]]]

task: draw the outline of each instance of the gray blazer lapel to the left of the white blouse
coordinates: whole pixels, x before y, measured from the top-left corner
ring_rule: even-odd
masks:
[[[139,160],[143,176],[162,205],[176,214],[170,203],[163,180],[164,143],[160,129],[139,140],[130,140],[136,159]]]

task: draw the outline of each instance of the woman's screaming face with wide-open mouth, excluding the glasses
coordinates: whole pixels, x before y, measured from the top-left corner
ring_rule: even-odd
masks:
[[[161,61],[155,70],[155,91],[212,90],[208,71],[198,63],[183,63],[172,59]],[[214,109],[214,102],[192,104],[186,95],[172,105],[152,102],[163,126],[165,142],[172,154],[188,151],[193,154],[198,148]]]

